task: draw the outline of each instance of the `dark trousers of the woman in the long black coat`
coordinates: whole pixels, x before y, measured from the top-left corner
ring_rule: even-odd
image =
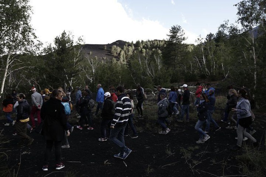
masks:
[[[49,165],[50,155],[54,143],[55,143],[56,164],[61,163],[61,141],[46,140],[45,157],[44,157],[45,165]]]

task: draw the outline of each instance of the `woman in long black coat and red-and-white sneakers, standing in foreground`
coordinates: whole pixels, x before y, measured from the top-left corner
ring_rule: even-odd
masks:
[[[64,139],[65,132],[67,136],[70,135],[67,129],[65,107],[61,104],[63,92],[54,90],[50,97],[51,98],[45,102],[41,108],[41,118],[44,120],[42,133],[46,140],[45,165],[42,168],[44,171],[48,170],[53,144],[55,144],[56,169],[65,167],[65,165],[61,163],[61,141]]]

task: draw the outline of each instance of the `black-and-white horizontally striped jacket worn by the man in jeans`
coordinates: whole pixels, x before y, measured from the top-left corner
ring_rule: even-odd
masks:
[[[115,105],[115,114],[111,125],[124,125],[131,112],[131,101],[125,93],[120,94]]]

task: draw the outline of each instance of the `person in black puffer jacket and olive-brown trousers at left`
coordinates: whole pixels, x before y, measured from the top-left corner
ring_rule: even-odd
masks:
[[[28,146],[33,142],[33,138],[27,135],[27,122],[29,122],[30,107],[25,95],[20,93],[17,95],[19,106],[17,107],[17,118],[15,123],[15,129],[17,135],[21,138],[22,143],[26,143]]]

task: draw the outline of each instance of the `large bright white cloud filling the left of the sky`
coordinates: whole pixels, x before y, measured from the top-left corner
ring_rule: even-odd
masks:
[[[31,5],[32,25],[42,42],[53,43],[64,30],[83,36],[86,44],[166,39],[168,33],[158,21],[133,20],[132,10],[126,13],[117,0],[31,0]]]

